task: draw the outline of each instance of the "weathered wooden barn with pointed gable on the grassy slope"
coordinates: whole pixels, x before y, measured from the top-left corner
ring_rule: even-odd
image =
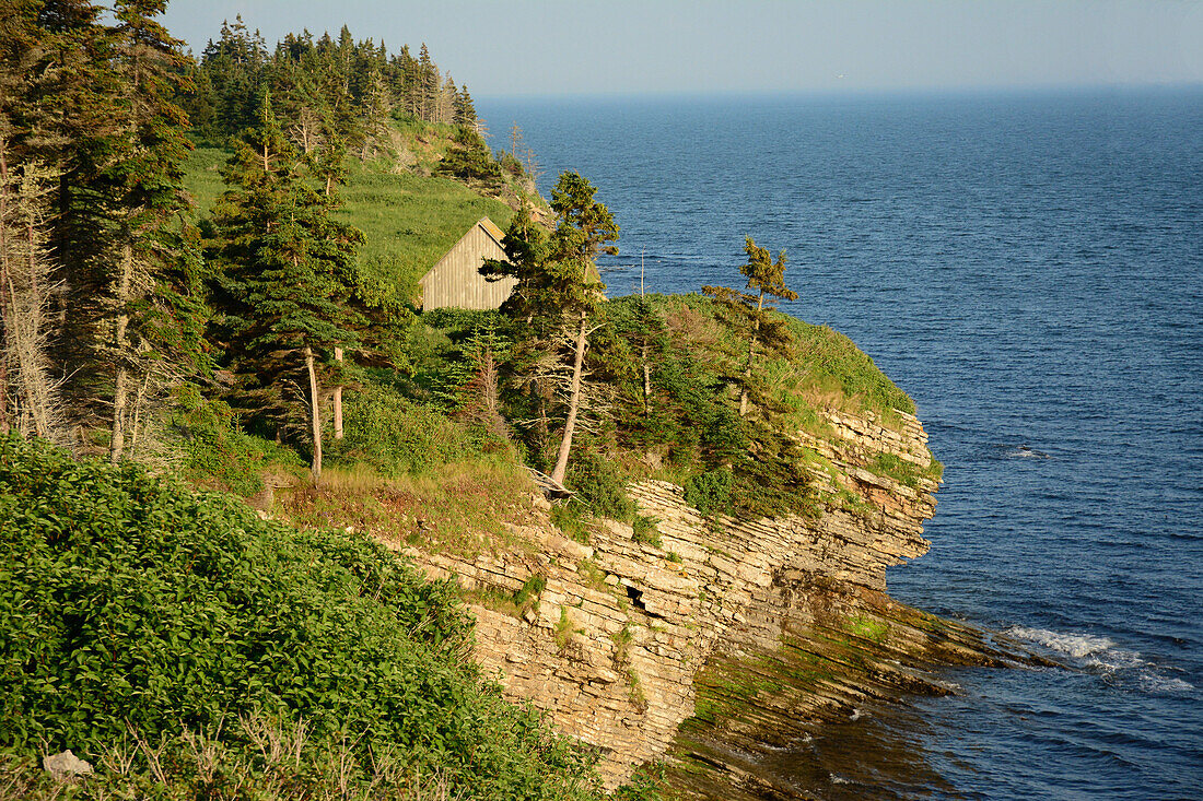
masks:
[[[480,274],[486,259],[504,260],[505,233],[484,216],[422,277],[422,309],[496,309],[517,285],[516,278],[491,281]]]

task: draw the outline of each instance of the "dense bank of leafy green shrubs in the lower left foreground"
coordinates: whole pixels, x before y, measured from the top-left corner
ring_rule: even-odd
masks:
[[[0,746],[96,754],[132,729],[303,719],[454,777],[573,797],[583,758],[460,658],[468,621],[371,540],[301,533],[126,465],[0,440]],[[238,734],[230,726],[231,747]]]

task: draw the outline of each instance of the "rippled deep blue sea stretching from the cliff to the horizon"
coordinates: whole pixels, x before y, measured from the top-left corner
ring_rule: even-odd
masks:
[[[946,464],[891,594],[1066,664],[871,710],[847,726],[923,770],[841,753],[814,793],[1203,799],[1203,90],[478,108],[545,195],[599,188],[614,295],[641,256],[688,292],[739,279],[745,235],[784,248],[787,310],[869,352]],[[828,736],[787,758],[851,750]]]

